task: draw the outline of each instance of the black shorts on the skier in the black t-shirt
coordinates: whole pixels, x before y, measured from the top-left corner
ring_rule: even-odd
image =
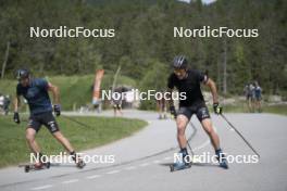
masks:
[[[198,119],[201,122],[205,118],[210,118],[209,109],[205,104],[199,104],[194,106],[180,106],[177,115],[184,115],[190,120],[191,116],[196,114]]]

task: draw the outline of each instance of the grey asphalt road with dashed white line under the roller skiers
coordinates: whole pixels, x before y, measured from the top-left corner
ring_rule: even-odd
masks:
[[[74,113],[70,113],[73,115]],[[112,115],[111,112],[101,115]],[[259,163],[230,163],[225,170],[217,163],[195,161],[191,168],[170,173],[169,164],[178,151],[175,123],[159,120],[151,112],[125,111],[125,116],[141,118],[149,125],[129,138],[85,151],[86,155],[114,155],[113,164],[88,164],[84,169],[66,164],[25,174],[23,168],[0,170],[0,190],[287,190],[287,117],[272,114],[226,114],[228,119],[261,154]],[[212,115],[228,155],[252,155],[252,151],[220,116]],[[186,132],[197,155],[213,149],[192,117]]]

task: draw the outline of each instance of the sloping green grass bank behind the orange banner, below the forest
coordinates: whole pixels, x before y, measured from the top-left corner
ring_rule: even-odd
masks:
[[[46,76],[46,78],[60,88],[61,105],[63,110],[77,109],[80,105],[91,104],[93,75],[85,76]],[[112,87],[113,75],[105,74],[102,79],[101,89]],[[136,81],[126,76],[118,76],[117,85],[136,87]],[[14,96],[16,80],[0,80],[0,92]]]

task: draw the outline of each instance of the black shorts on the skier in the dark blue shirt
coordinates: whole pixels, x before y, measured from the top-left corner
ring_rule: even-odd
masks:
[[[29,117],[28,128],[33,128],[38,132],[42,125],[45,125],[51,133],[59,131],[59,126],[52,112],[32,115]]]

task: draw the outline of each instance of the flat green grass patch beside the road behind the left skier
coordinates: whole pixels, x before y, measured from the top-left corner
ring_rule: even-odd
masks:
[[[16,125],[12,116],[0,116],[0,167],[15,165],[29,160],[29,150],[25,141],[26,122]],[[26,118],[23,116],[23,118]],[[88,124],[90,128],[83,127],[64,117],[58,123],[63,135],[71,141],[76,151],[96,148],[112,141],[130,136],[144,128],[147,123],[139,119],[109,118],[109,117],[73,117]],[[64,149],[50,132],[42,127],[36,140],[45,154],[59,154]]]

